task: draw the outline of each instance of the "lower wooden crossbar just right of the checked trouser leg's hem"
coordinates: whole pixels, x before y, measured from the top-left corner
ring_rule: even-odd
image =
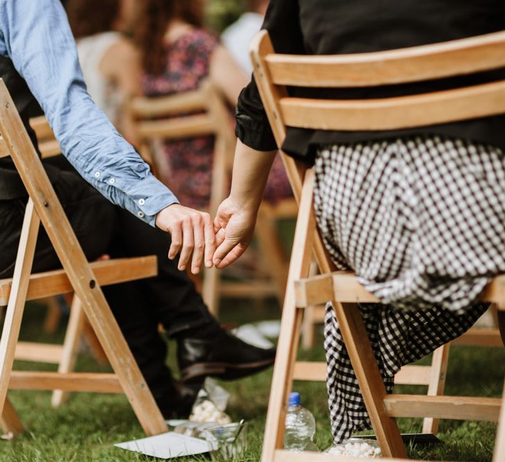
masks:
[[[384,404],[393,417],[432,417],[497,422],[501,400],[459,396],[387,395]]]

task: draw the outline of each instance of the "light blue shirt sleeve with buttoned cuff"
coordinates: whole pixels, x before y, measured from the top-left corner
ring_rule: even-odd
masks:
[[[100,193],[152,226],[177,203],[91,100],[60,0],[0,0],[0,54],[26,80],[64,156]]]

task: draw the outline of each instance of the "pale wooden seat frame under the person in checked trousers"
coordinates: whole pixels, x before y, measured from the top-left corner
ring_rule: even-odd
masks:
[[[380,303],[380,300],[357,281],[353,272],[333,272],[294,283],[296,307],[322,305],[330,300],[341,303]],[[481,295],[482,301],[505,309],[505,274],[493,278]]]

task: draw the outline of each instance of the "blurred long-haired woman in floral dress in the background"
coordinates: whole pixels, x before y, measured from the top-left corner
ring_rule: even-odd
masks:
[[[137,3],[134,39],[142,55],[145,96],[195,90],[208,78],[225,100],[236,106],[247,77],[219,38],[204,28],[203,14],[201,0]],[[209,208],[213,150],[213,136],[165,141],[155,149],[160,179],[170,185],[182,204]]]

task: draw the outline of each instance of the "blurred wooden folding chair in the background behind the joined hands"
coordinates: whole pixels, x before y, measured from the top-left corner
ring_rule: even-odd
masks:
[[[157,163],[152,155],[154,143],[193,136],[215,136],[209,204],[209,213],[215,216],[218,206],[227,197],[236,143],[229,111],[219,91],[207,80],[194,91],[158,98],[134,98],[129,109],[141,140],[139,152],[150,163],[155,174]],[[220,272],[215,268],[204,269],[202,296],[213,314],[218,314],[220,296],[278,296],[280,300],[283,299],[287,258],[283,254],[274,220],[289,213],[292,217],[296,216],[296,203],[289,199],[276,205],[265,203],[259,213],[260,225],[256,238],[261,254],[268,256],[269,281],[220,281]]]

